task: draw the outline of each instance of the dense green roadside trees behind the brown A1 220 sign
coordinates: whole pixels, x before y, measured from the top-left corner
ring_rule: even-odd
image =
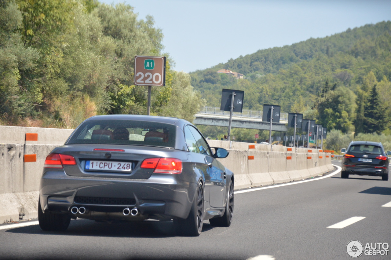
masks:
[[[151,114],[192,121],[203,101],[188,74],[170,69],[162,39],[151,16],[126,4],[0,0],[0,124],[74,128],[98,114],[146,114],[135,55],[167,56]]]

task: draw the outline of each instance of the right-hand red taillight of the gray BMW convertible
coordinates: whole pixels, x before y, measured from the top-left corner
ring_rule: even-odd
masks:
[[[140,168],[154,169],[156,173],[179,174],[182,172],[182,161],[175,158],[148,158]]]

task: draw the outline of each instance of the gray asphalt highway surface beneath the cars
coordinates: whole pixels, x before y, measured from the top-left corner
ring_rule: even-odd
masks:
[[[42,231],[36,220],[23,227],[0,225],[0,258],[351,259],[346,252],[351,240],[364,247],[390,245],[391,181],[340,176],[338,172],[236,192],[231,226],[212,228],[205,221],[199,237],[179,237],[171,222],[158,221],[108,224],[78,219],[66,232]],[[337,224],[347,219],[357,222]],[[334,224],[338,228],[330,227]],[[363,254],[359,259],[390,259],[388,250],[387,256]]]

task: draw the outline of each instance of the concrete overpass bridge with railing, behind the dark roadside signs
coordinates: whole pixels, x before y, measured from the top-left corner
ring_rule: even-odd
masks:
[[[194,115],[193,124],[207,126],[226,126],[228,127],[230,120],[230,112],[221,111],[216,107],[204,107]],[[281,113],[280,123],[272,124],[273,131],[287,131],[285,124],[288,123],[288,113]],[[234,112],[232,115],[232,127],[269,130],[270,123],[262,121],[262,111],[253,111],[243,109],[242,113]]]

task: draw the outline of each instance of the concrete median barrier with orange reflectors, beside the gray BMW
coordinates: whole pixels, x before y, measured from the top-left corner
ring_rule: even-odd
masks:
[[[0,223],[38,217],[45,158],[63,145],[72,131],[0,126]],[[26,140],[27,133],[38,138]],[[235,189],[306,179],[334,169],[331,155],[323,151],[219,140],[208,143],[230,151],[227,158],[219,160],[235,173]],[[25,155],[30,156],[28,160]]]

